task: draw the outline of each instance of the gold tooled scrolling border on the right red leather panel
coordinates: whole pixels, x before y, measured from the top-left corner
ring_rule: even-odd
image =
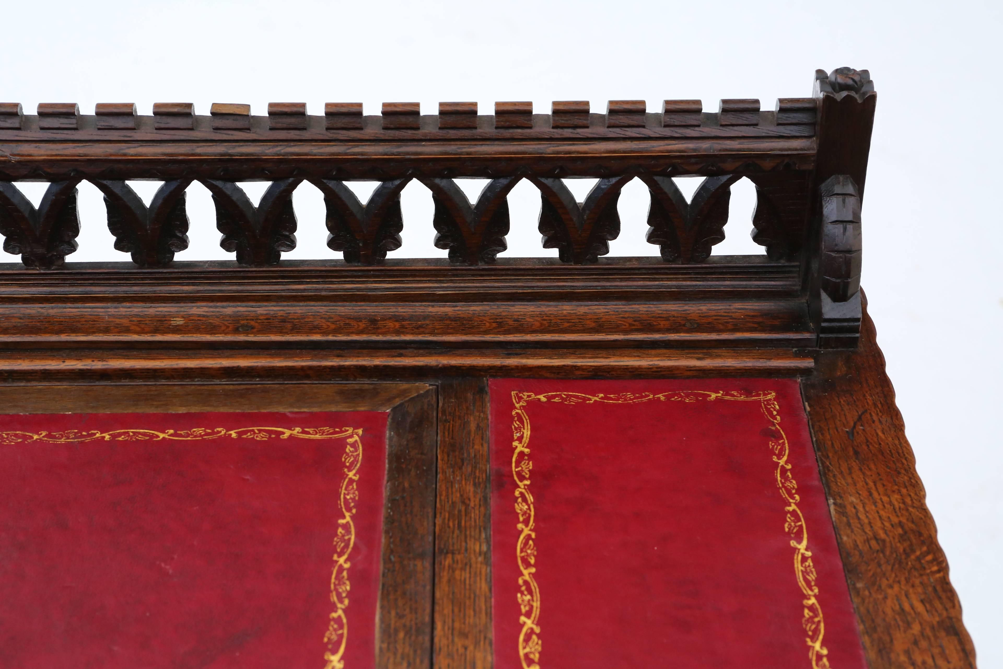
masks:
[[[530,416],[527,404],[532,401],[554,402],[556,404],[593,404],[596,402],[608,404],[637,404],[651,400],[696,402],[699,400],[738,400],[756,401],[762,413],[772,423],[777,436],[770,437],[769,448],[773,451],[773,461],[776,462],[776,486],[785,503],[784,532],[790,536],[790,546],[794,549],[794,577],[801,590],[803,599],[803,615],[801,626],[807,636],[804,641],[808,646],[808,657],[811,669],[830,669],[828,650],[822,645],[825,634],[825,624],[822,618],[821,606],[818,603],[818,588],[815,585],[817,574],[811,562],[811,552],[808,550],[808,533],[804,524],[804,516],[797,504],[797,481],[790,473],[790,463],[787,457],[790,446],[787,436],[780,427],[780,405],[776,393],[770,390],[743,393],[740,391],[704,391],[677,390],[663,393],[631,393],[588,395],[579,392],[547,392],[536,394],[514,390],[512,393],[513,408],[513,448],[512,473],[516,481],[516,514],[519,523],[519,540],[516,543],[516,562],[519,566],[518,581],[521,616],[523,626],[519,634],[519,658],[523,669],[540,669],[540,655],[543,642],[540,638],[540,586],[537,583],[536,559],[537,533],[535,530],[536,510],[533,493],[530,491],[530,473],[533,470],[533,460],[530,459]]]

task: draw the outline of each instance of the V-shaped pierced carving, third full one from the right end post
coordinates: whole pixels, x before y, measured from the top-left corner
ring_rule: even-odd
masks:
[[[475,205],[450,179],[423,179],[435,204],[435,248],[447,249],[453,263],[493,263],[509,248],[509,193],[519,177],[494,179],[484,186]]]

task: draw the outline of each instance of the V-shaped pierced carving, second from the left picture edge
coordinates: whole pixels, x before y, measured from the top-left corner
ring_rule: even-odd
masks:
[[[125,182],[94,181],[104,194],[108,230],[115,250],[132,255],[139,267],[163,267],[188,248],[185,189],[191,180],[164,182],[147,208]]]

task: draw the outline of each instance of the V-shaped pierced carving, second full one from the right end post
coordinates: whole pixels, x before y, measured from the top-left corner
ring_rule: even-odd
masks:
[[[617,202],[620,191],[633,177],[601,179],[584,203],[575,202],[560,179],[531,178],[540,189],[540,233],[545,249],[557,249],[562,262],[595,263],[610,252],[610,242],[620,235]]]

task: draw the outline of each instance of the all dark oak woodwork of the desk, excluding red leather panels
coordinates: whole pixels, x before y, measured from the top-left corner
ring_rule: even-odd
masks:
[[[876,101],[868,70],[841,67],[772,110],[0,103],[0,235],[21,256],[0,264],[0,412],[389,411],[377,664],[487,669],[488,378],[799,377],[871,669],[974,667],[859,290]],[[686,176],[704,178],[691,202],[673,182]],[[574,178],[598,180],[584,203]],[[756,208],[736,223],[743,178]],[[457,179],[488,183],[470,202]],[[634,179],[652,257],[610,258],[611,241],[644,234],[643,219],[621,230]],[[133,180],[164,185],[147,207]],[[510,221],[524,180],[540,217]],[[37,209],[20,181],[50,184]],[[257,206],[247,181],[271,183]],[[357,181],[379,183],[366,203]],[[448,258],[393,257],[412,181]],[[83,182],[131,263],[72,262]],[[233,261],[179,256],[193,182]],[[342,259],[283,259],[303,182],[326,208],[303,224],[325,225]],[[507,257],[511,227],[528,223],[553,257]],[[764,256],[712,255],[749,224]]]

